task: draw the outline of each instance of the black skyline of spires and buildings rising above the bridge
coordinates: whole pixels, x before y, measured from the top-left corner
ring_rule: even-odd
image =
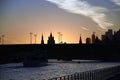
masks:
[[[54,36],[52,33],[50,33],[50,36],[48,36],[47,44],[63,44],[63,42],[60,40],[60,32],[58,33],[58,41],[59,43],[55,43]],[[64,42],[66,43],[66,42]],[[95,35],[95,32],[90,37],[86,38],[86,43],[82,43],[82,37],[80,34],[79,42],[78,44],[119,44],[120,43],[120,29],[118,31],[114,31],[112,29],[108,29],[108,31],[105,32],[105,34],[101,34],[101,39],[98,38],[97,35]],[[43,34],[41,38],[41,44],[44,44]],[[69,44],[69,43],[68,43]]]

